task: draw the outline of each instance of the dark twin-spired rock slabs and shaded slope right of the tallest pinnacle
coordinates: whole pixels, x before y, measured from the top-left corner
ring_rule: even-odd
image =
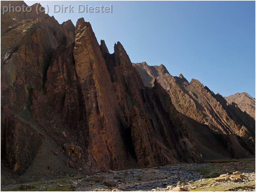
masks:
[[[117,99],[120,98],[118,104],[123,111],[127,130],[131,132],[131,139],[134,143],[133,147],[139,165],[146,166],[141,162],[154,165],[151,161],[145,159],[145,156],[150,155],[149,152],[158,157],[158,159],[154,158],[154,162],[159,163],[199,162],[202,158],[250,156],[247,151],[241,152],[243,147],[241,147],[236,136],[230,138],[225,134],[216,134],[206,125],[202,125],[177,112],[168,93],[156,80],[154,80],[152,88],[144,87],[139,73],[132,68],[132,63],[119,42],[114,46],[115,52],[113,54],[108,53],[103,40],[100,48]],[[160,71],[166,72],[167,70],[162,65]],[[147,135],[144,138],[146,133]],[[126,138],[128,138],[128,135]],[[147,138],[150,138],[150,140]],[[215,145],[213,146],[211,143],[215,143]],[[143,146],[146,146],[145,150],[143,150]],[[240,154],[236,151],[239,151]],[[141,152],[143,152],[143,155],[138,156]],[[152,159],[152,156],[149,157]],[[140,161],[140,159],[143,161]]]

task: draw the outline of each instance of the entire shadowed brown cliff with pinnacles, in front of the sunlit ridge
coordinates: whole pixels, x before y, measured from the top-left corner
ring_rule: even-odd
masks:
[[[241,133],[231,138],[178,112],[167,85],[151,79],[153,87],[145,87],[121,43],[110,54],[83,18],[74,26],[46,14],[10,13],[1,26],[1,153],[13,172],[40,164],[35,174],[46,174],[49,163],[64,174],[69,161],[98,172],[250,156],[237,141],[252,134],[249,121],[236,124],[246,116],[234,115],[232,128]],[[147,74],[159,73],[170,75],[163,65]]]

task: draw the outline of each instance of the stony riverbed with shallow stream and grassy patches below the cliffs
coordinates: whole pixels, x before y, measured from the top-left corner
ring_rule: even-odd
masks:
[[[2,186],[32,191],[255,191],[255,160],[173,164]]]

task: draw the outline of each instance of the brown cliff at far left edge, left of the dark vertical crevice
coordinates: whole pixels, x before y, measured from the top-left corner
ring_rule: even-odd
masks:
[[[22,1],[1,2],[1,6],[9,4],[27,6]],[[3,15],[1,12],[1,112],[4,114],[1,116],[1,122],[4,122],[1,124],[1,153],[18,174],[24,173],[32,163],[42,143],[37,136],[37,127],[31,126],[21,114],[30,108],[32,89],[45,91],[47,70],[54,51],[59,45],[74,42],[72,22],[60,25],[54,17],[42,12],[37,14],[35,9],[40,6],[32,5],[30,13]],[[14,147],[11,140],[16,142],[15,149],[11,149]]]

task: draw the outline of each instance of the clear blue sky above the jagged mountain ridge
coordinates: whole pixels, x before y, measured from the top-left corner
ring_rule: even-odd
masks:
[[[61,24],[84,17],[110,52],[120,41],[132,62],[164,64],[173,76],[198,79],[214,93],[247,92],[255,97],[255,2],[76,2],[48,4]],[[71,4],[74,13],[53,13],[53,4]],[[78,13],[77,4],[109,6],[112,13]]]

